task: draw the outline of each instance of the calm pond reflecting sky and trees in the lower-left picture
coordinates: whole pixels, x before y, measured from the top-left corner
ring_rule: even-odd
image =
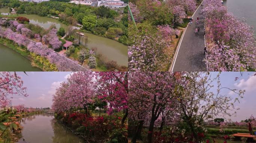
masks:
[[[19,139],[18,143],[84,143],[52,115],[31,115],[22,118],[21,125],[21,134],[25,141]]]

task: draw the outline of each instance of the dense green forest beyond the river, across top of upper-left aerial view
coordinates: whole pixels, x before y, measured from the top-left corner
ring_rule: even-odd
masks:
[[[124,0],[125,1],[125,0]],[[127,2],[127,1],[125,1]],[[127,45],[128,8],[113,10],[108,7],[91,7],[81,4],[66,3],[62,0],[42,3],[23,2],[18,0],[0,0],[0,7],[14,8],[18,14],[39,16],[57,16],[65,24],[80,23],[83,29],[93,34],[105,36]]]

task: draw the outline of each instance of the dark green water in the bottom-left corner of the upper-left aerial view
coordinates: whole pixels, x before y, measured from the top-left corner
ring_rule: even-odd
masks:
[[[0,44],[0,71],[42,71],[31,66],[30,60]]]

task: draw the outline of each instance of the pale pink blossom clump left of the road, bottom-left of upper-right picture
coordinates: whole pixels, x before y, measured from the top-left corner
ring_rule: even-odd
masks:
[[[131,71],[156,71],[167,59],[166,49],[170,42],[161,35],[135,35],[134,44],[128,47]]]

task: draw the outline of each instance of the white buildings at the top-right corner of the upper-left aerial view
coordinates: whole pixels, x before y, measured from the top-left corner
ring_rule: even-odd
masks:
[[[128,4],[124,3],[124,1],[121,0],[101,0],[98,1],[98,7],[99,6],[106,6],[111,9],[118,9],[120,7],[126,7]]]

